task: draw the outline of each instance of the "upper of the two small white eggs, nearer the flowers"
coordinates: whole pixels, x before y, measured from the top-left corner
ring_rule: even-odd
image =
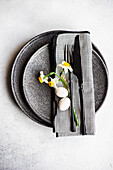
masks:
[[[68,91],[66,88],[64,87],[58,87],[56,90],[55,90],[55,94],[58,96],[58,97],[67,97],[68,96]]]

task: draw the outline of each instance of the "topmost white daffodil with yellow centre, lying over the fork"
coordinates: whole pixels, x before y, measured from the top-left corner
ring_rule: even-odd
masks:
[[[71,65],[69,63],[67,63],[66,61],[62,61],[62,63],[57,66],[62,67],[64,69],[65,74],[68,73],[68,70],[70,70],[70,72],[73,71]]]

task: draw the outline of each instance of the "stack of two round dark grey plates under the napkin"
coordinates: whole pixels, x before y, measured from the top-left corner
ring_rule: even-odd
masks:
[[[38,74],[50,72],[51,40],[56,34],[67,31],[50,31],[31,39],[18,53],[11,73],[13,95],[22,111],[32,120],[52,127],[51,89],[40,85]],[[102,105],[108,88],[108,69],[98,48],[92,43],[95,111]],[[51,56],[52,57],[52,56]]]

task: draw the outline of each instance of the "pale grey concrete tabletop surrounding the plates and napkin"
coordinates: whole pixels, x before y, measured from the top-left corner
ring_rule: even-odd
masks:
[[[89,30],[109,69],[96,135],[56,138],[23,114],[10,92],[16,52],[54,29]],[[0,170],[113,169],[113,1],[0,0]]]

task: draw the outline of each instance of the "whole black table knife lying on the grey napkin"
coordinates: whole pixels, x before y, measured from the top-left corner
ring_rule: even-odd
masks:
[[[81,66],[79,35],[77,35],[75,37],[75,42],[74,42],[73,74],[75,74],[77,76],[77,78],[78,78],[80,105],[81,105],[82,135],[86,135],[85,114],[84,114],[84,107],[83,107],[83,77],[82,77],[82,66]]]

